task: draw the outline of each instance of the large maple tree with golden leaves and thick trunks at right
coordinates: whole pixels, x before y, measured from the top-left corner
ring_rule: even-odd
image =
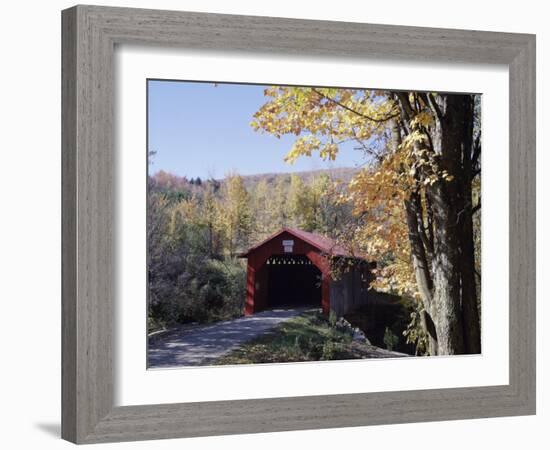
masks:
[[[364,152],[340,198],[363,220],[343,243],[379,262],[374,287],[417,299],[427,353],[479,353],[479,96],[283,86],[265,96],[251,125],[295,135],[288,162],[335,160],[349,141]]]

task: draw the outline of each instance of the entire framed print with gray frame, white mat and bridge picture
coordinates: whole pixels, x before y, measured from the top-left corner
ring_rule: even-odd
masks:
[[[534,36],[62,17],[65,439],[534,414]]]

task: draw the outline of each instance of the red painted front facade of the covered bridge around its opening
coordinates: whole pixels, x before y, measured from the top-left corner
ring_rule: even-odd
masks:
[[[293,240],[292,253],[285,253],[283,241]],[[245,315],[261,311],[267,307],[267,268],[266,261],[273,255],[305,255],[321,271],[321,307],[325,314],[330,311],[330,262],[321,250],[305,242],[300,237],[284,231],[272,239],[252,248],[248,254]]]

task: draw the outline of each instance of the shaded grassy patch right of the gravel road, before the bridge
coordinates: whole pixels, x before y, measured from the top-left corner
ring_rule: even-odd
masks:
[[[216,364],[253,364],[357,359],[351,334],[329,321],[318,310],[307,311],[252,340]]]

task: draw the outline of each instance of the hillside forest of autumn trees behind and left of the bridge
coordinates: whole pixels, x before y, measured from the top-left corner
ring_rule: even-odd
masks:
[[[239,253],[284,226],[338,238],[354,220],[339,198],[355,173],[150,176],[150,328],[241,315],[246,260]]]

